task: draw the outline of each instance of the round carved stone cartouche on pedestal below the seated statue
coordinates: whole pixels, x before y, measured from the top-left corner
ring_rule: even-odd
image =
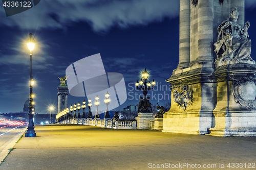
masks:
[[[248,74],[243,80],[233,82],[234,100],[246,109],[256,109],[256,77]]]

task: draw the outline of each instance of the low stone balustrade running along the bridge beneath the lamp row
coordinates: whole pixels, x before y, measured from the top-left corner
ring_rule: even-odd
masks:
[[[137,120],[114,120],[111,118],[71,118],[57,124],[78,124],[112,129],[137,129]]]

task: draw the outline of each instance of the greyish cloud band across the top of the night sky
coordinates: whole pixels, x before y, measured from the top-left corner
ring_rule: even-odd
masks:
[[[64,29],[73,22],[86,21],[93,30],[108,31],[111,27],[128,28],[161,21],[179,15],[179,1],[171,0],[46,0],[34,8],[11,17],[0,9],[0,26],[22,29]]]

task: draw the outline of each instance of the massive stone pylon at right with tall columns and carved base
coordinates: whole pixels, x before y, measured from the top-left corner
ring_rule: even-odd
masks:
[[[239,18],[227,19],[235,8]],[[244,0],[180,0],[180,62],[166,80],[172,88],[172,106],[163,117],[164,132],[256,135],[256,65],[248,57],[239,58],[240,51],[216,55],[216,42],[225,37],[219,26],[225,20],[236,22],[237,30],[244,28]],[[228,31],[234,34],[232,27]],[[233,44],[230,38],[225,42],[234,47],[244,43],[232,37]],[[222,41],[231,51],[233,46]]]

